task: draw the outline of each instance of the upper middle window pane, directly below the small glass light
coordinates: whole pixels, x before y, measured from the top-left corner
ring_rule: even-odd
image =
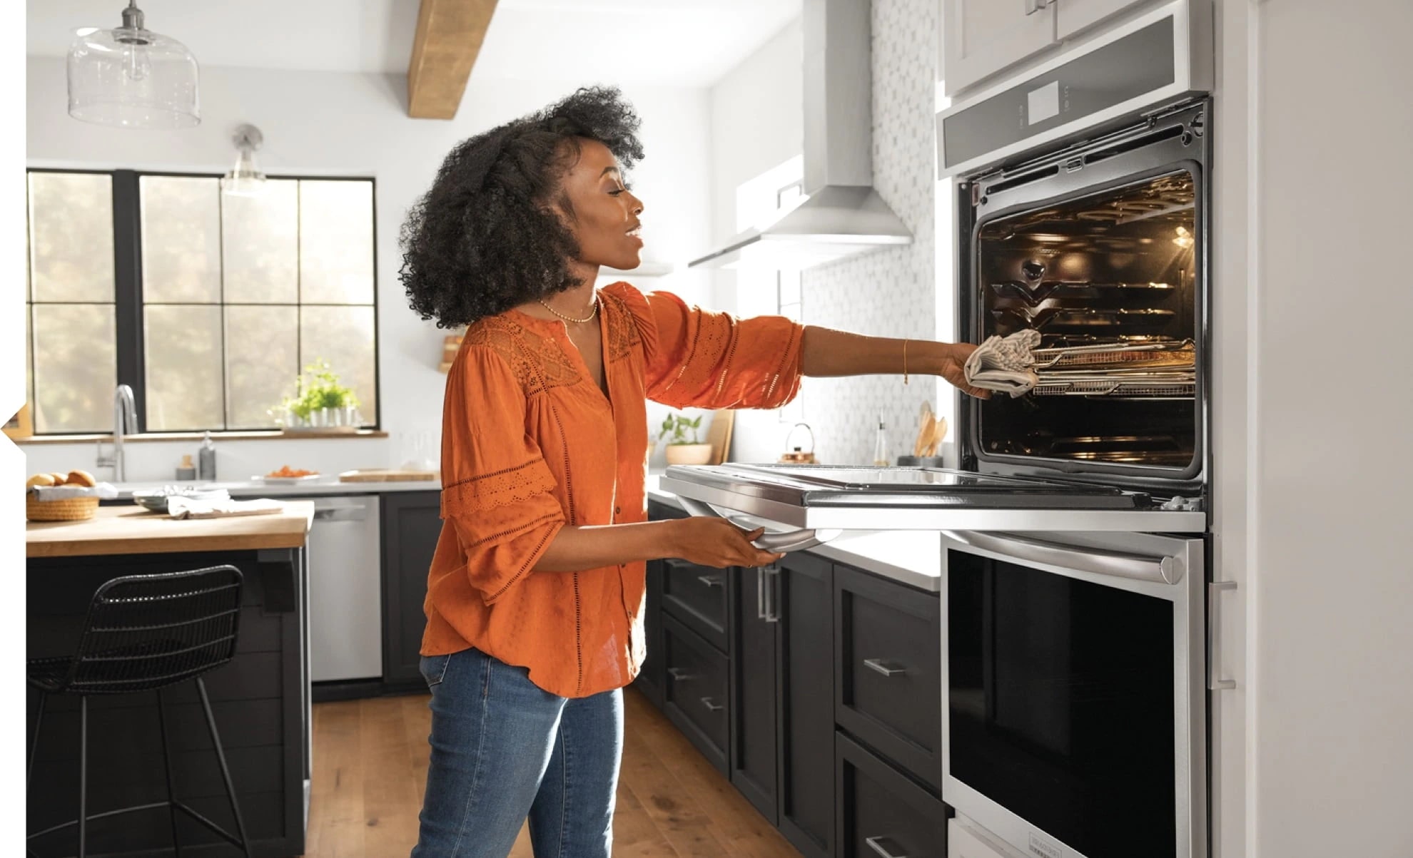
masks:
[[[254,196],[220,195],[227,302],[298,302],[298,186],[292,179],[270,179]]]

